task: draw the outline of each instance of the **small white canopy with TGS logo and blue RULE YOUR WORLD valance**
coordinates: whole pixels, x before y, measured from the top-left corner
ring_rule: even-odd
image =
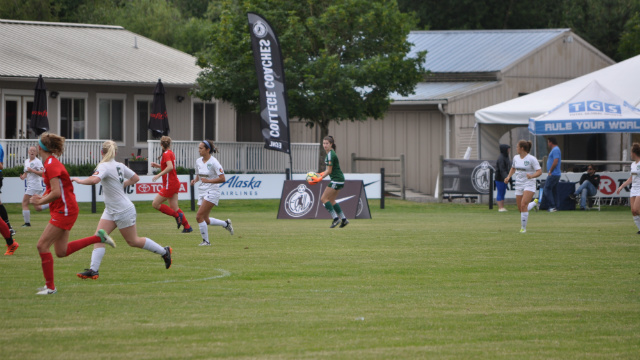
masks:
[[[640,109],[592,81],[555,109],[529,119],[534,135],[627,133],[640,131]]]

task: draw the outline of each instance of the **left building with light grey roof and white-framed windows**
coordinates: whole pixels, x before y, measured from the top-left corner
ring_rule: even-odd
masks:
[[[199,71],[195,57],[121,26],[0,19],[0,138],[34,136],[28,121],[42,75],[50,131],[73,140],[113,139],[122,158],[146,153],[158,79],[174,140],[235,141],[231,106],[190,96]]]

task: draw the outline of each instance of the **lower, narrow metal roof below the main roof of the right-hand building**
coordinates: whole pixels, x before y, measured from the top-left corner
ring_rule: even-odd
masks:
[[[443,102],[470,91],[482,89],[484,87],[497,84],[497,81],[474,81],[474,82],[427,82],[418,83],[414,89],[415,94],[400,96],[397,93],[391,94],[394,103],[399,102]]]

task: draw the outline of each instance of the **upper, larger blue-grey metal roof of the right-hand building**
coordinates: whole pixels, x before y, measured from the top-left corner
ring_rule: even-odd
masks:
[[[412,31],[409,56],[427,50],[432,72],[500,71],[570,29]]]

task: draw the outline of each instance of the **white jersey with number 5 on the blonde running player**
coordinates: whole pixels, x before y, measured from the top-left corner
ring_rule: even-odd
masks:
[[[135,207],[127,194],[124,193],[124,188],[122,187],[124,181],[133,175],[135,175],[133,170],[115,160],[100,163],[96,167],[93,176],[101,179],[104,207],[108,214],[119,214]]]

